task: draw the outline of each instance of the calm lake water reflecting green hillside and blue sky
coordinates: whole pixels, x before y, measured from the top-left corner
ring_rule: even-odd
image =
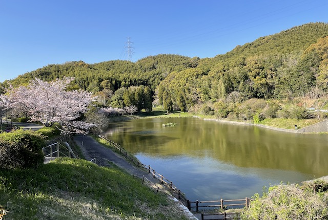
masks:
[[[174,127],[162,127],[169,122]],[[328,136],[197,118],[112,123],[108,139],[172,181],[191,201],[243,199],[264,186],[328,175]]]

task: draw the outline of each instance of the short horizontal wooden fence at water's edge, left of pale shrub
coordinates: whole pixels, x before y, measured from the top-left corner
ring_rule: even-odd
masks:
[[[187,207],[190,211],[192,209],[196,209],[196,212],[199,211],[200,208],[219,208],[221,210],[227,209],[230,207],[250,207],[251,199],[249,197],[246,197],[245,199],[240,200],[215,200],[215,201],[196,201],[196,202],[190,202],[188,201]],[[195,204],[195,205],[192,205]],[[207,205],[204,205],[207,204]]]

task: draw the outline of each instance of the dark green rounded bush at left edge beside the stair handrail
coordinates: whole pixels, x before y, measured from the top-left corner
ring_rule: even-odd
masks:
[[[35,167],[43,163],[44,137],[31,130],[14,130],[0,134],[0,167],[14,169]]]

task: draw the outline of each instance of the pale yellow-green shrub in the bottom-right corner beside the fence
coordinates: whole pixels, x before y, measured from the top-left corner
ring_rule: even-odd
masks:
[[[262,197],[255,194],[242,219],[327,219],[328,209],[323,197],[297,185],[269,188]]]

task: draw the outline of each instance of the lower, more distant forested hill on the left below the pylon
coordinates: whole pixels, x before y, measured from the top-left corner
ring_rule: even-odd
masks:
[[[49,64],[19,75],[11,80],[11,83],[13,85],[27,83],[35,77],[53,80],[73,76],[81,89],[91,92],[101,91],[105,85],[113,91],[131,85],[149,85],[154,90],[170,72],[182,71],[192,65],[191,58],[179,55],[149,56],[135,63],[126,60],[111,60],[94,64],[72,61],[64,64]]]

